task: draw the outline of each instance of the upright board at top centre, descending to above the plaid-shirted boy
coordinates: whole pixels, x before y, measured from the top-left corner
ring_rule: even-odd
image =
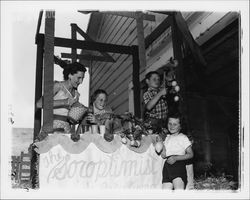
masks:
[[[145,70],[147,66],[142,12],[136,12],[136,30],[139,47],[140,71],[142,71]]]

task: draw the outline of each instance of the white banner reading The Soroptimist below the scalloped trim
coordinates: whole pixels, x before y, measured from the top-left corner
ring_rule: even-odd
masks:
[[[80,154],[56,145],[40,155],[41,189],[161,188],[163,160],[151,144],[145,153],[122,145],[114,153],[100,151],[91,143]]]

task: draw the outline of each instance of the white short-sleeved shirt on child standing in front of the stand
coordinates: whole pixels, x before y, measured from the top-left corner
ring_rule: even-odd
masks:
[[[169,135],[164,141],[166,156],[185,155],[186,149],[191,145],[188,137],[182,133]]]

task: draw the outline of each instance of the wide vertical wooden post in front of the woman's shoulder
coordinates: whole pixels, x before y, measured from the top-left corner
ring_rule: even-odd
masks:
[[[53,131],[54,33],[55,12],[46,11],[44,35],[43,127],[46,127],[48,132]]]

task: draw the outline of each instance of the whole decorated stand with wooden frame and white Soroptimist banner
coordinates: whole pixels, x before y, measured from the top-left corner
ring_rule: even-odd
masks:
[[[34,143],[32,144],[31,183],[33,188],[161,188],[163,159],[162,138],[160,130],[150,129],[148,125],[138,120],[143,116],[140,94],[140,68],[145,67],[145,46],[150,45],[162,33],[160,27],[152,32],[144,41],[143,19],[152,18],[152,15],[136,12],[125,12],[136,19],[138,29],[138,45],[124,46],[95,42],[86,35],[76,24],[71,24],[72,39],[54,36],[55,12],[46,11],[45,33],[39,33],[43,12],[40,12],[37,33],[37,63],[36,63],[36,90],[35,102],[43,96],[42,110],[35,108]],[[150,19],[151,19],[150,18]],[[153,17],[154,18],[154,17]],[[179,21],[178,21],[179,20]],[[177,31],[183,19],[180,14],[169,15],[164,30],[173,28]],[[171,23],[170,23],[171,22]],[[164,22],[165,23],[165,22]],[[177,25],[176,25],[177,23]],[[182,31],[186,31],[185,27]],[[77,40],[79,33],[85,40]],[[188,35],[188,39],[190,39]],[[189,40],[193,44],[192,40]],[[176,38],[173,38],[174,57],[179,61],[181,47]],[[70,134],[53,131],[53,83],[54,83],[54,47],[72,49],[68,55],[75,62],[77,58],[115,62],[106,52],[126,54],[132,56],[132,83],[133,83],[133,115],[127,121],[131,126],[119,133],[100,134],[96,128],[86,130],[82,134]],[[194,47],[197,47],[195,44]],[[99,51],[102,57],[78,55],[76,50]],[[192,49],[195,51],[194,49]],[[180,99],[180,87],[183,81],[179,78],[180,69],[175,72],[177,60],[170,60],[170,64],[163,64],[163,86],[169,89],[169,98],[183,110],[183,99]],[[201,62],[203,60],[201,59]],[[182,64],[179,63],[180,65]],[[43,67],[44,66],[44,67]],[[178,76],[175,76],[177,74]],[[168,79],[169,78],[169,79]],[[178,84],[177,84],[178,79]],[[43,84],[43,86],[42,86]],[[181,100],[181,101],[180,101]],[[43,115],[41,114],[43,112]],[[133,117],[135,116],[135,117]],[[43,118],[42,118],[43,117]],[[113,115],[113,118],[117,116]],[[111,117],[111,118],[112,118]],[[78,120],[76,120],[78,121]],[[150,126],[150,125],[149,125]],[[46,133],[41,131],[46,129]],[[166,133],[164,133],[166,135]]]

